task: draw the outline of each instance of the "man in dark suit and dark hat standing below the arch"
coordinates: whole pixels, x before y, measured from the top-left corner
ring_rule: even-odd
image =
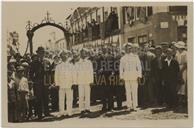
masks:
[[[38,118],[42,119],[42,114],[49,116],[48,108],[48,88],[44,85],[44,48],[38,47],[37,59],[35,59],[30,66],[30,78],[34,83],[34,95],[36,96],[37,114]],[[44,110],[44,112],[43,112]]]

